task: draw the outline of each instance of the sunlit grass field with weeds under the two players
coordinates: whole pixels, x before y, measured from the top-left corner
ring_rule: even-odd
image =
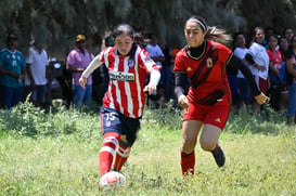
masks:
[[[220,138],[227,164],[196,146],[195,175],[180,169],[181,113],[146,110],[123,168],[127,183],[98,188],[101,123],[95,112],[0,112],[0,195],[296,195],[296,128],[272,112],[231,114]]]

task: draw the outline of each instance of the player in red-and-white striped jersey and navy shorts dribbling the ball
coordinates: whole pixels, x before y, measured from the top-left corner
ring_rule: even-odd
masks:
[[[110,82],[101,117],[104,140],[100,151],[101,175],[110,172],[112,167],[119,171],[128,159],[140,130],[145,92],[156,92],[160,78],[157,65],[145,50],[133,42],[133,35],[130,25],[118,25],[113,31],[115,45],[95,56],[79,79],[80,86],[85,87],[88,76],[95,68],[104,63],[108,69]],[[149,73],[150,82],[145,86]]]

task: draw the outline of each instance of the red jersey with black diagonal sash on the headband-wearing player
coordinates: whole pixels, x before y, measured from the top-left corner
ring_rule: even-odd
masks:
[[[202,105],[216,92],[221,92],[217,104],[231,105],[231,92],[227,79],[226,65],[232,57],[232,51],[221,43],[207,40],[201,56],[193,57],[183,48],[175,60],[175,73],[185,73],[191,81],[188,93],[190,101]],[[217,93],[216,93],[217,94]]]

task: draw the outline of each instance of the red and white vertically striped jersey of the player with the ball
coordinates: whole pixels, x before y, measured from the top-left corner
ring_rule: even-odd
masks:
[[[145,75],[157,69],[154,61],[137,44],[127,56],[120,55],[116,47],[110,47],[99,54],[99,58],[105,63],[110,74],[103,106],[129,118],[141,117],[145,105]]]

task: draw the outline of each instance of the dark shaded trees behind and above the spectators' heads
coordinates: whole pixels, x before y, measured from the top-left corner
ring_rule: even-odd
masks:
[[[119,23],[155,32],[170,47],[183,45],[183,25],[193,14],[249,38],[256,26],[295,29],[295,10],[296,0],[1,0],[0,47],[13,32],[22,52],[34,38],[47,44],[51,56],[64,60],[77,34],[85,34],[91,48]]]

